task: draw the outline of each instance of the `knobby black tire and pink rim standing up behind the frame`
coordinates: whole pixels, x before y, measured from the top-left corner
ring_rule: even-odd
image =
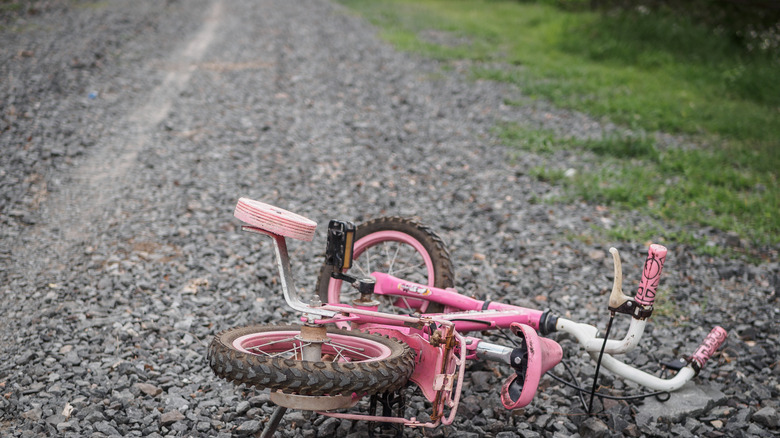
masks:
[[[408,243],[399,244],[399,241],[392,239],[377,239],[376,236],[379,236],[379,234],[376,233],[382,232],[395,232],[397,233],[396,238],[406,240],[409,243],[412,241],[417,242],[416,246],[421,249],[415,249]],[[367,244],[365,242],[371,243]],[[361,247],[366,246],[366,248],[375,248],[379,247],[380,245],[400,246],[404,251],[407,251],[410,257],[419,257],[420,261],[424,261],[424,255],[421,254],[421,251],[424,251],[429,257],[430,266],[428,266],[428,263],[425,263],[425,273],[423,273],[423,270],[420,270],[420,272],[418,272],[416,274],[417,276],[415,277],[414,273],[412,273],[411,276],[407,276],[408,273],[405,272],[403,275],[399,274],[399,277],[409,281],[427,284],[429,286],[435,286],[439,288],[448,288],[454,286],[455,274],[452,270],[450,253],[447,251],[447,248],[441,238],[427,226],[413,219],[402,217],[380,217],[357,226],[357,230],[355,232],[355,257],[350,272],[356,276],[368,275],[370,272],[364,272],[365,270],[361,269],[360,266],[361,256],[366,253],[366,250],[362,249]],[[368,257],[372,258],[370,254]],[[390,264],[390,266],[392,267],[393,264]],[[333,272],[333,269],[334,268],[329,265],[323,265],[320,269],[320,275],[317,278],[317,294],[323,303],[338,303],[342,302],[342,300],[343,302],[349,303],[348,299],[341,296],[344,294],[344,291],[347,290],[348,285],[341,285],[342,282],[340,280],[334,280],[331,278],[330,275]],[[427,273],[431,269],[433,271],[432,282],[430,275]],[[379,270],[394,275],[393,272],[388,272],[388,270],[374,270]],[[390,269],[390,271],[392,271],[392,269]],[[337,288],[341,291],[339,293],[338,299],[329,299],[328,290],[330,287],[333,287],[334,290]],[[412,304],[410,304],[408,307],[404,307],[409,304],[409,301],[412,301]],[[399,302],[396,301],[394,304],[399,305]],[[441,304],[428,301],[414,302],[414,300],[407,300],[404,302],[404,306],[399,306],[399,309],[403,311],[403,313],[412,313],[414,311],[420,311],[423,313],[438,313],[443,311],[443,306]],[[388,309],[380,310],[389,311]]]

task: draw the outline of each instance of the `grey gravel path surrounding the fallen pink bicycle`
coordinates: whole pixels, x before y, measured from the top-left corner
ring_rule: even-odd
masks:
[[[236,229],[239,196],[320,223],[415,215],[448,243],[466,293],[605,327],[614,243],[586,236],[642,218],[539,202],[557,189],[527,169],[582,157],[518,154],[491,131],[519,121],[588,136],[599,122],[505,106],[518,90],[396,53],[326,1],[30,4],[36,14],[0,22],[0,436],[262,428],[267,394],[220,381],[204,360],[221,329],[295,320],[270,244]],[[322,234],[290,245],[302,289]],[[530,406],[507,412],[507,371],[475,364],[457,422],[407,436],[778,434],[777,249],[753,265],[668,246],[670,300],[629,357],[657,369],[724,325],[727,347],[696,380],[704,396],[682,402],[700,406],[676,413],[673,396],[658,418],[653,401],[605,402],[588,419],[545,379]],[[644,248],[619,248],[626,289]],[[557,339],[587,382],[592,364]],[[366,424],[290,412],[279,433],[358,437]]]

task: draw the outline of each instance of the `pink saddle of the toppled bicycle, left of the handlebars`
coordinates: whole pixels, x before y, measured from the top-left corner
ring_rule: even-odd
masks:
[[[530,326],[513,323],[511,329],[516,335],[523,338],[528,352],[528,366],[525,370],[520,396],[517,400],[512,400],[509,395],[509,387],[518,378],[517,373],[515,373],[504,382],[504,386],[501,388],[501,404],[507,409],[518,409],[531,403],[536,395],[536,389],[539,387],[539,380],[544,373],[561,361],[563,350],[552,339],[540,338]]]

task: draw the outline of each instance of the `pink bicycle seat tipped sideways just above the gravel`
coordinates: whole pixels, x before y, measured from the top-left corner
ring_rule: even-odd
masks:
[[[512,332],[523,345],[512,353],[512,374],[501,388],[501,404],[507,409],[528,405],[536,395],[539,380],[563,358],[563,350],[552,339],[540,338],[531,326],[513,322]]]

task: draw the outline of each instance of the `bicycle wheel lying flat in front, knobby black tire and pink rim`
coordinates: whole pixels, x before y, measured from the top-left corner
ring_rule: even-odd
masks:
[[[287,348],[284,345],[284,342],[288,342],[286,337],[295,334],[300,334],[300,326],[257,325],[225,330],[217,334],[209,345],[209,365],[217,376],[236,384],[245,383],[258,389],[314,396],[352,393],[370,395],[394,391],[406,384],[414,370],[414,351],[408,345],[357,330],[329,328],[328,337],[338,342],[360,345],[366,353],[375,352],[376,357],[371,360],[304,361],[295,357],[254,354],[244,349],[249,348],[249,345],[263,345],[264,342],[275,340],[274,344],[266,344],[263,348],[269,354],[276,354],[279,353],[277,350]],[[294,342],[289,340],[290,345]],[[329,351],[328,345],[324,345],[323,354]],[[360,353],[347,351],[345,355],[356,354]]]

